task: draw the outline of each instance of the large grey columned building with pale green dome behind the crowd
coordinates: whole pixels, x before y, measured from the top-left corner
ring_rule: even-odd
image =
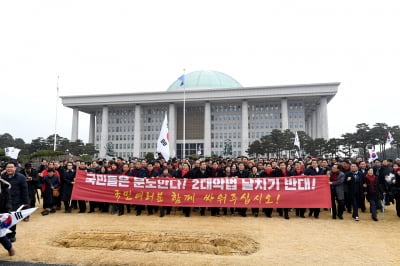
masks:
[[[175,80],[166,91],[61,98],[73,109],[71,141],[78,139],[79,112],[89,114],[89,143],[101,158],[108,148],[124,158],[156,152],[165,114],[172,157],[227,155],[227,142],[230,157],[237,157],[274,129],[328,139],[327,105],[339,85],[243,87],[227,74],[201,70]]]

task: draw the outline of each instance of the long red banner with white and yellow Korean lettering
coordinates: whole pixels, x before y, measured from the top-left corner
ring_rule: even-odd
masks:
[[[331,207],[327,176],[178,179],[77,171],[71,198],[156,206]]]

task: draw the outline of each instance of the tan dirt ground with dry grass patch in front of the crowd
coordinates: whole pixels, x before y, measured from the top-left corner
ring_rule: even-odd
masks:
[[[290,220],[253,217],[187,218],[180,211],[160,218],[135,213],[57,211],[42,216],[39,208],[29,222],[17,226],[16,255],[0,252],[0,260],[74,265],[269,265],[368,264],[400,265],[400,218],[394,205],[385,217],[371,220],[360,213],[356,222],[345,213],[332,220]]]

